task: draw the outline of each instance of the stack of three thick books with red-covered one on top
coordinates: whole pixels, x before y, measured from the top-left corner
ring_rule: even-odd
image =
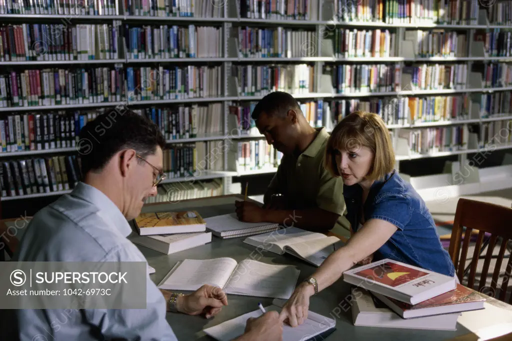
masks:
[[[463,311],[484,309],[478,292],[454,277],[390,259],[344,272],[355,326],[456,330]]]

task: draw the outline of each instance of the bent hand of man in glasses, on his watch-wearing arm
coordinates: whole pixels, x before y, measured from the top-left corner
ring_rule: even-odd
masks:
[[[161,290],[166,301],[169,300],[170,292]],[[227,306],[227,295],[219,287],[203,285],[191,294],[179,296],[176,302],[176,309],[188,315],[204,314],[206,318],[218,314],[223,306]]]

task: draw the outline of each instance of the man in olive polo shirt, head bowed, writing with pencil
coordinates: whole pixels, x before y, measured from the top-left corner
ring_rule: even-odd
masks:
[[[265,96],[254,107],[252,118],[267,143],[282,152],[283,158],[265,193],[264,206],[237,201],[238,218],[331,231],[349,238],[343,179],[332,177],[323,166],[329,138],[325,127],[309,125],[298,102],[286,92]]]

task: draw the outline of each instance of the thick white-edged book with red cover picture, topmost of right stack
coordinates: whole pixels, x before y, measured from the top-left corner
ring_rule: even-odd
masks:
[[[343,273],[343,279],[355,286],[413,305],[457,287],[455,277],[391,259],[347,270]]]

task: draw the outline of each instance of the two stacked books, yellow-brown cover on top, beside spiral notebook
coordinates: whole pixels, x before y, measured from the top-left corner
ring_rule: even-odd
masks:
[[[211,242],[206,222],[197,211],[141,213],[133,220],[138,232],[132,241],[165,254]]]

